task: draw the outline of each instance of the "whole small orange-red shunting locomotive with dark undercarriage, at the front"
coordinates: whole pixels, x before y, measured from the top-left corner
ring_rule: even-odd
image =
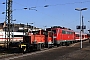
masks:
[[[10,47],[12,48],[12,45]],[[21,42],[18,46],[20,50],[23,52],[32,51],[32,50],[41,50],[45,47],[52,47],[53,45],[53,32],[52,31],[45,31],[45,30],[38,30],[28,32],[27,35],[23,36],[23,42]]]

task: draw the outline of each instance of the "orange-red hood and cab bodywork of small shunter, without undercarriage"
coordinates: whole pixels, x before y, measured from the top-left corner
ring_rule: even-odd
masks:
[[[28,42],[30,44],[45,44],[52,43],[53,41],[53,33],[50,31],[34,31],[33,34],[28,33],[28,36],[24,36],[24,42]]]

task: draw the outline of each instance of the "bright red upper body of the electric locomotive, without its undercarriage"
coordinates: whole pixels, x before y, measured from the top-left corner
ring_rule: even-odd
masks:
[[[75,32],[73,30],[65,29],[65,28],[51,28],[51,31],[54,32],[55,44],[60,44],[60,42],[67,42],[67,41],[75,40]]]

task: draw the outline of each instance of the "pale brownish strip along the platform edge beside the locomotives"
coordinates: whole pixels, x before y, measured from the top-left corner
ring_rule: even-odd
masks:
[[[88,40],[84,41],[84,42],[88,42]],[[86,43],[84,43],[84,44],[86,44]],[[59,49],[59,48],[63,48],[63,47],[73,47],[73,46],[77,47],[78,45],[80,45],[80,42],[71,44],[69,46],[60,46],[60,47],[55,46],[55,47],[50,48],[50,49],[44,48],[41,51],[35,51],[35,52],[26,53],[26,54],[23,54],[23,53],[13,53],[13,54],[3,53],[3,54],[0,54],[0,59],[3,59],[3,58],[10,58],[10,59],[19,58],[19,57],[24,57],[24,56],[28,56],[28,55],[37,54],[37,53],[47,52],[47,51],[50,51],[50,50],[55,50],[55,49]]]

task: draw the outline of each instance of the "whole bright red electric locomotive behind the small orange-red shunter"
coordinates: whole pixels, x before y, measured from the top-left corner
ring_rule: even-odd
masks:
[[[70,42],[75,41],[75,32],[71,29],[60,26],[53,26],[51,28],[47,28],[47,30],[51,30],[54,32],[54,45],[66,45]]]

